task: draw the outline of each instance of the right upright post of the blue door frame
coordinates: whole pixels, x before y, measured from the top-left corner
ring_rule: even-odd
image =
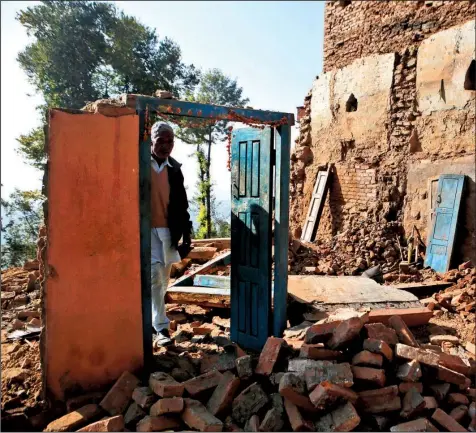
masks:
[[[280,126],[276,134],[276,181],[274,210],[273,335],[286,329],[288,298],[289,176],[291,128]]]

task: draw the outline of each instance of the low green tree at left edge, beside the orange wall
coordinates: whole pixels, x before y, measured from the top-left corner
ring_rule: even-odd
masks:
[[[38,229],[43,221],[43,200],[39,191],[18,189],[8,200],[1,199],[2,269],[23,266],[26,260],[36,257]]]

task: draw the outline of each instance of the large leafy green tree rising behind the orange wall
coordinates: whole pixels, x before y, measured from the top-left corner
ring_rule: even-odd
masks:
[[[159,40],[155,29],[112,3],[43,1],[21,10],[17,20],[33,39],[17,60],[44,99],[42,122],[47,108],[82,108],[99,98],[157,89],[179,96],[198,83],[175,42]],[[27,163],[44,168],[43,128],[18,141]]]

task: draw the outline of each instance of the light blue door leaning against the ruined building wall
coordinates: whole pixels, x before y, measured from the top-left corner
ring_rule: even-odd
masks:
[[[438,178],[436,206],[425,257],[425,266],[437,272],[446,272],[450,268],[464,179],[464,175],[457,174],[444,174]]]

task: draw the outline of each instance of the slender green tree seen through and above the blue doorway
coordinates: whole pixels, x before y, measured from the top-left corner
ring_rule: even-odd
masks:
[[[188,91],[186,99],[191,102],[203,104],[224,105],[228,107],[243,107],[248,98],[243,97],[243,89],[236,80],[225,75],[219,69],[206,71],[200,79],[200,84],[195,91]],[[199,234],[206,233],[207,237],[213,236],[213,183],[210,176],[211,153],[214,143],[226,140],[228,121],[222,120],[210,123],[208,120],[194,122],[193,127],[178,120],[179,129],[177,136],[185,143],[196,147],[196,157],[199,165],[199,184],[196,200],[199,208]]]

